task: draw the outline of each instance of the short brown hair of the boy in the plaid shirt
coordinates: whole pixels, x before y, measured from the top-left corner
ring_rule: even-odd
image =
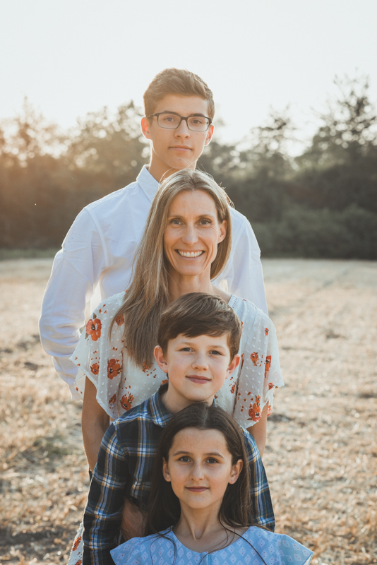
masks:
[[[222,298],[205,292],[190,292],[174,300],[162,313],[157,343],[164,353],[167,343],[183,333],[188,338],[198,335],[228,334],[230,360],[237,355],[241,340],[239,317]]]

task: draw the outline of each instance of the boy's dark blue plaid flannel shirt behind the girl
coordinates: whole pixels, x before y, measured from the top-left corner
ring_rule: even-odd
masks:
[[[83,565],[114,565],[124,499],[145,509],[162,429],[172,418],[162,404],[162,385],[152,398],[115,420],[104,434],[84,514]],[[253,521],[273,530],[275,518],[265,470],[253,436],[244,431],[249,455]]]

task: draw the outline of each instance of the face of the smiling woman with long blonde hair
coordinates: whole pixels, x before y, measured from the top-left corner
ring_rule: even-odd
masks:
[[[169,272],[195,277],[207,273],[217,245],[227,234],[227,222],[219,222],[213,198],[205,191],[182,191],[172,201],[164,232],[164,254]]]

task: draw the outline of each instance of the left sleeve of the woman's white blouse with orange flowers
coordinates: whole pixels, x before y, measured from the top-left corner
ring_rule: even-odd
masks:
[[[83,398],[85,377],[97,388],[97,402],[114,420],[118,417],[117,393],[123,369],[123,317],[109,328],[116,311],[123,302],[124,292],[114,295],[92,312],[83,328],[71,361],[78,367],[75,387]]]

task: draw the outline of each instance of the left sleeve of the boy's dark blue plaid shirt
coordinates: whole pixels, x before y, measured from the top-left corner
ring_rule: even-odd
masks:
[[[83,565],[114,565],[110,549],[116,546],[120,530],[128,476],[128,453],[112,424],[102,439],[90,483],[84,513]]]

